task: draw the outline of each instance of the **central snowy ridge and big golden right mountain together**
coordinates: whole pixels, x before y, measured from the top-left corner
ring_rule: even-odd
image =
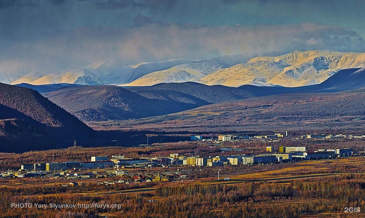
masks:
[[[174,66],[147,74],[126,86],[151,86],[163,82],[194,81],[206,85],[306,86],[323,82],[338,70],[365,67],[365,53],[293,51],[277,57],[227,56]],[[228,64],[224,60],[234,61]],[[230,64],[233,64],[230,66]]]

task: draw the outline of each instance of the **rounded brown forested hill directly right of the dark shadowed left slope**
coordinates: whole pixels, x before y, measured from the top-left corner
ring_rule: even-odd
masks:
[[[151,98],[146,98],[118,86],[84,86],[61,89],[45,95],[85,121],[160,116],[207,104],[189,96],[176,101],[168,96],[162,98],[158,93],[150,93]]]

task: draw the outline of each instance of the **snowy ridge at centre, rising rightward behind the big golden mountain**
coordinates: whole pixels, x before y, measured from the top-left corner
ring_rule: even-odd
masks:
[[[151,86],[164,82],[199,82],[201,78],[226,67],[247,61],[247,55],[226,55],[210,60],[195,61],[192,63],[177,65],[167,70],[155,71],[126,86]]]

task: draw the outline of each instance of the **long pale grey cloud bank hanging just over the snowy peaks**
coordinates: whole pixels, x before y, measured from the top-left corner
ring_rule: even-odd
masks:
[[[105,59],[122,59],[135,64],[241,53],[258,56],[293,50],[365,50],[364,38],[356,32],[326,25],[143,24],[143,27],[129,28],[85,27],[46,34],[31,42],[16,40],[0,47],[0,59],[15,64],[24,61],[40,66],[83,67]]]

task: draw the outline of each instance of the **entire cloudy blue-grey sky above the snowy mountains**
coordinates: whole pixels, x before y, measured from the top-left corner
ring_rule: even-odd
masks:
[[[0,0],[0,71],[365,51],[361,0]]]

